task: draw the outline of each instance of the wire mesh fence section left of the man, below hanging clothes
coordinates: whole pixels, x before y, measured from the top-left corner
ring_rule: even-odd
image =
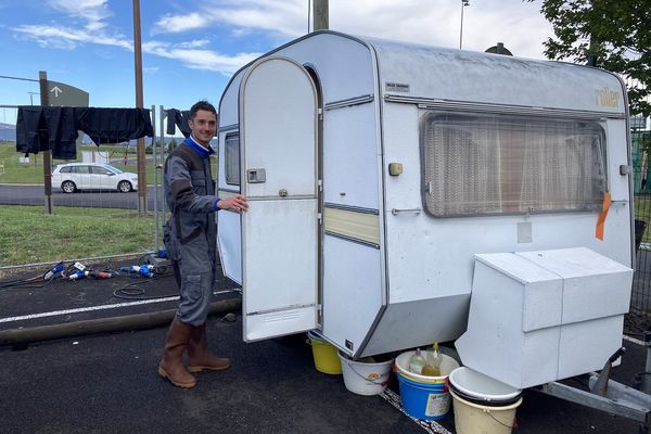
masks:
[[[183,140],[166,136],[165,113],[151,110],[146,186],[139,188],[136,141],[98,146],[80,133],[76,158],[52,161],[48,197],[42,154],[16,151],[17,107],[0,105],[0,269],[161,250],[167,216],[162,163]],[[50,203],[52,215],[46,213]]]

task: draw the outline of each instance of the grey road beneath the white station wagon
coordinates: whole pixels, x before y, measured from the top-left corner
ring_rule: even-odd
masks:
[[[153,187],[148,188],[148,209],[154,209]],[[158,190],[158,196],[163,192]],[[46,202],[43,186],[0,184],[0,205],[43,205]],[[81,191],[64,193],[52,189],[52,203],[56,206],[78,206],[93,208],[138,209],[138,192],[120,193],[118,191]],[[162,203],[158,202],[158,209]]]

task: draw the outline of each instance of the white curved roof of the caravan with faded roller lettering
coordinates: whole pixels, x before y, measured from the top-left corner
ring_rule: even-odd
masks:
[[[283,54],[318,72],[326,106],[350,97],[378,94],[393,100],[418,100],[414,102],[427,105],[445,103],[448,107],[455,102],[481,102],[505,108],[515,106],[520,113],[522,107],[532,107],[602,113],[609,117],[626,114],[626,93],[616,75],[570,63],[331,30],[306,35],[265,56]],[[239,87],[250,65],[233,76],[222,98],[228,90]],[[230,119],[222,120],[221,125],[230,124]]]

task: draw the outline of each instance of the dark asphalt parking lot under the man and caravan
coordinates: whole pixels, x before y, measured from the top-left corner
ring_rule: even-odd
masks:
[[[240,296],[224,278],[215,291],[216,299]],[[174,309],[175,295],[168,275],[4,288],[0,335],[156,315]],[[244,343],[235,314],[232,322],[220,312],[207,324],[209,346],[231,357],[232,368],[199,373],[192,390],[156,373],[165,327],[0,346],[0,433],[455,433],[452,410],[438,423],[419,424],[404,414],[395,378],[385,394],[360,396],[346,390],[342,375],[318,372],[305,334]],[[646,353],[629,341],[624,345],[628,352],[613,378],[631,384]],[[514,433],[638,432],[636,422],[533,390],[523,397]]]

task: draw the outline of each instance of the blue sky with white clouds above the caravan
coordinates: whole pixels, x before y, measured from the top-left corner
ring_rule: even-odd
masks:
[[[545,59],[541,1],[330,0],[330,29],[429,46]],[[216,106],[239,68],[307,34],[310,0],[140,0],[144,106]],[[461,21],[461,10],[463,20]],[[131,0],[0,0],[0,76],[82,89],[90,106],[133,107]],[[309,28],[308,28],[309,26]],[[0,78],[0,106],[39,103],[38,82]],[[0,123],[15,110],[0,107]]]

